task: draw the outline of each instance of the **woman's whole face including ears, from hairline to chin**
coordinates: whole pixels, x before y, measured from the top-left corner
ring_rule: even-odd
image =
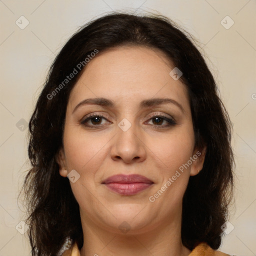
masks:
[[[135,234],[180,220],[204,154],[173,68],[160,50],[115,47],[90,60],[73,87],[57,161],[87,225]]]

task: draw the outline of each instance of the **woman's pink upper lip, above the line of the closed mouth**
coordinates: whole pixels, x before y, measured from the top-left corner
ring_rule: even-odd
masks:
[[[124,183],[124,184],[129,184],[129,183],[148,183],[152,184],[153,181],[148,179],[145,176],[139,175],[139,174],[116,174],[113,176],[110,176],[102,181],[104,184],[109,184],[109,183]]]

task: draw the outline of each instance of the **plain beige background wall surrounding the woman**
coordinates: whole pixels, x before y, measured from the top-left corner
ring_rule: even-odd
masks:
[[[79,25],[120,9],[158,11],[201,42],[233,123],[234,229],[220,250],[256,255],[255,0],[0,0],[0,256],[29,255],[26,236],[17,231],[24,219],[17,193],[29,167],[26,123],[49,65]],[[24,29],[21,15],[29,21]],[[221,24],[226,15],[234,21],[229,29]],[[222,22],[229,26],[231,19]]]

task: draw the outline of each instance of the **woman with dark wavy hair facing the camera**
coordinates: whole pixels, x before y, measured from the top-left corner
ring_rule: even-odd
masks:
[[[166,17],[110,13],[81,27],[29,132],[32,255],[227,255],[216,249],[230,121],[203,57]]]

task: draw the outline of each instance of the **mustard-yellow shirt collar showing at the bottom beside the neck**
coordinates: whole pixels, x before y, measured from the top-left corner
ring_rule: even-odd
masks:
[[[80,256],[80,251],[77,244],[74,243],[73,247],[65,250],[61,256]],[[209,245],[202,242],[198,244],[188,256],[230,256],[219,250],[213,250]]]

